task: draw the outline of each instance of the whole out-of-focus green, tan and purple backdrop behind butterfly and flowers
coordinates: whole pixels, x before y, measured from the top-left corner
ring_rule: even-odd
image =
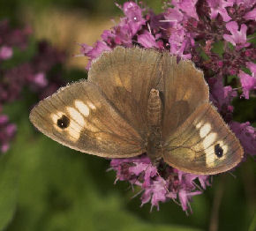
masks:
[[[144,3],[162,10],[161,1]],[[0,115],[7,116],[0,117],[0,134],[6,131],[0,156],[0,230],[254,230],[252,158],[233,175],[213,177],[212,187],[193,197],[192,214],[172,201],[149,212],[149,204],[140,207],[139,197],[132,198],[128,183],[114,185],[115,173],[106,171],[109,160],[59,145],[29,123],[29,111],[39,99],[87,78],[87,58],[73,56],[79,54],[78,43],[93,45],[120,17],[122,11],[110,0],[0,1],[0,32],[2,37],[11,34],[5,39],[14,47],[11,59],[0,63],[0,83],[6,70],[14,76],[11,98],[0,102]],[[24,40],[12,41],[15,34]],[[25,70],[36,78],[23,77]],[[41,75],[54,81],[47,85]],[[235,120],[255,126],[252,101],[234,101],[243,111],[235,111]]]

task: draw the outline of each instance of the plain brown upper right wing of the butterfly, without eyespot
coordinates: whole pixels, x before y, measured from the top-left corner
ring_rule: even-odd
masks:
[[[162,57],[163,122],[162,138],[168,138],[192,112],[209,98],[202,71],[191,61],[164,53]]]

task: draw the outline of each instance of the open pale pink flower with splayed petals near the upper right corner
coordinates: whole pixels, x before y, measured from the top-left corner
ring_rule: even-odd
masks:
[[[223,38],[226,41],[230,41],[237,49],[246,48],[250,46],[250,42],[246,41],[247,26],[241,25],[240,31],[238,31],[238,24],[235,21],[231,21],[226,24],[226,28],[230,31],[230,34],[224,34]]]

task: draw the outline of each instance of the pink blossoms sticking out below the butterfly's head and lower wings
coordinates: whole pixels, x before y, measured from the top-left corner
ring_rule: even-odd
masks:
[[[206,189],[210,185],[207,175],[193,175],[171,168],[168,165],[162,170],[162,175],[152,166],[147,155],[129,159],[113,159],[111,169],[117,171],[117,180],[129,181],[132,185],[139,185],[142,190],[141,205],[151,203],[151,209],[159,209],[160,202],[179,198],[184,211],[187,210],[192,196],[202,193],[196,190],[196,181],[199,179],[201,187]]]

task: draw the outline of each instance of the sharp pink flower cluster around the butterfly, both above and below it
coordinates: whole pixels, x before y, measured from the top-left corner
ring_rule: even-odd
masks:
[[[172,0],[165,3],[162,13],[154,14],[145,6],[126,2],[117,5],[124,11],[120,22],[104,31],[102,40],[93,47],[81,44],[81,54],[92,61],[116,46],[137,45],[169,50],[171,55],[192,59],[205,73],[210,100],[237,134],[245,153],[255,155],[256,130],[249,122],[233,122],[231,105],[238,94],[249,99],[256,89],[256,48],[250,41],[256,28],[255,4],[255,0]],[[220,51],[215,50],[216,44],[221,44]],[[236,85],[224,86],[230,75],[237,76]],[[158,207],[159,202],[178,199],[187,211],[192,196],[202,193],[210,184],[208,175],[187,174],[169,166],[158,169],[160,176],[145,155],[114,159],[110,166],[117,171],[117,180],[141,187],[142,205],[151,202]]]

